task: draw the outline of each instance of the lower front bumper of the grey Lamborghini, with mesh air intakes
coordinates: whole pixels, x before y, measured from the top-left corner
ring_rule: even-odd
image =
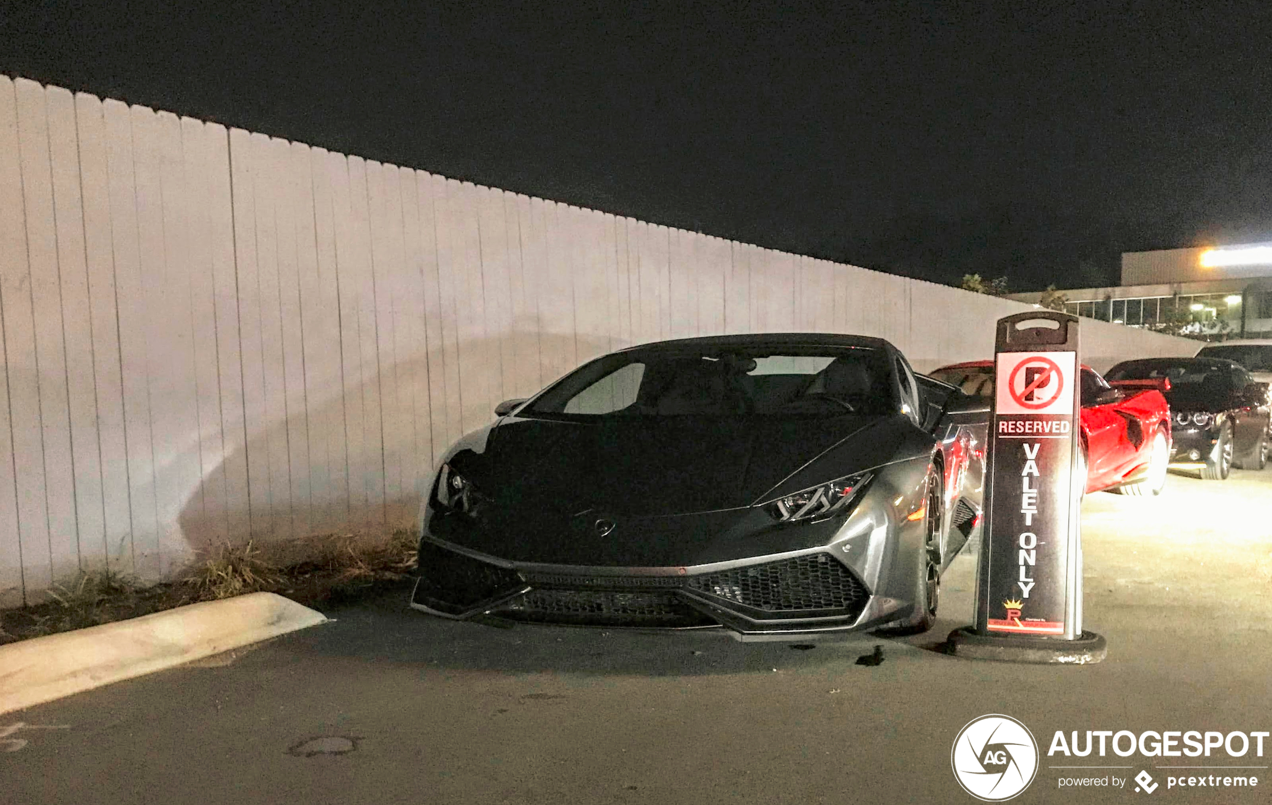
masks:
[[[411,607],[468,619],[721,630],[743,641],[842,633],[895,621],[902,602],[871,595],[826,548],[697,567],[514,563],[425,538]]]

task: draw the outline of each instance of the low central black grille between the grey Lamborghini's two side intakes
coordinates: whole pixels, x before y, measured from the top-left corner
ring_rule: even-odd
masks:
[[[499,607],[494,614],[538,623],[586,626],[712,626],[715,621],[686,605],[673,590],[534,589]]]

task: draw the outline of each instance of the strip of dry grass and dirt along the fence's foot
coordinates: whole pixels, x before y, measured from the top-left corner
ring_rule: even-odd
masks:
[[[45,603],[0,610],[0,643],[98,626],[196,602],[277,593],[309,607],[355,605],[398,593],[415,570],[415,533],[332,534],[268,548],[224,543],[174,582],[144,586],[113,571],[81,572]]]

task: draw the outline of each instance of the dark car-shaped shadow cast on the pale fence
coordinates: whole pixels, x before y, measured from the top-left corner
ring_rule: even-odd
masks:
[[[508,338],[466,341],[459,345],[458,354],[491,360],[509,355],[518,361],[537,357],[538,375],[546,384],[611,348],[607,337],[516,332]],[[448,402],[454,406],[457,396],[446,394],[436,376],[430,384],[430,369],[438,371],[436,366],[430,368],[427,356],[420,355],[382,368],[380,373],[349,389],[340,388],[338,378],[331,388],[307,388],[304,398],[310,404],[304,415],[276,421],[253,432],[247,443],[239,439],[226,450],[225,458],[202,478],[201,487],[192,491],[182,507],[178,524],[186,544],[168,548],[197,561],[225,543],[242,544],[248,539],[261,544],[328,534],[383,535],[412,526],[421,490],[430,482],[434,469],[432,455],[416,455],[413,444],[427,445],[426,437],[436,435],[438,444],[431,453],[440,457],[464,430],[492,421],[495,404],[501,402],[496,398],[500,396],[497,385],[491,384],[487,388],[494,390],[486,394],[488,401],[464,406],[460,425],[457,412],[450,411],[448,416],[445,407]],[[516,369],[520,374],[514,376],[527,378],[532,387],[541,382],[524,366]],[[467,364],[444,371],[444,382],[453,382],[459,370],[471,371]],[[496,365],[488,379],[500,376]],[[412,417],[384,416],[387,407],[374,401],[389,389],[398,401],[430,401],[431,427],[420,417],[413,421],[415,432],[407,435],[404,431],[412,427]],[[523,394],[534,390],[537,388],[530,388]],[[349,404],[351,401],[355,404]],[[374,413],[377,406],[383,421]],[[357,427],[359,407],[365,439],[357,436],[357,430],[350,431]],[[403,434],[396,437],[393,429]],[[388,446],[383,454],[382,432]],[[291,441],[296,439],[304,439],[304,450],[298,450]],[[296,464],[304,464],[298,457],[305,455],[310,457],[309,465],[298,476]],[[303,543],[298,542],[296,547],[303,548]]]

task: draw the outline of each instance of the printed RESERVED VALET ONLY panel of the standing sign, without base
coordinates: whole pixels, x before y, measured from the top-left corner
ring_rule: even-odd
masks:
[[[1077,355],[995,356],[992,496],[982,633],[1068,637],[1081,632],[1080,558],[1070,528],[1077,422]],[[1072,547],[1071,547],[1072,546]],[[1077,576],[1075,579],[1075,575]]]

